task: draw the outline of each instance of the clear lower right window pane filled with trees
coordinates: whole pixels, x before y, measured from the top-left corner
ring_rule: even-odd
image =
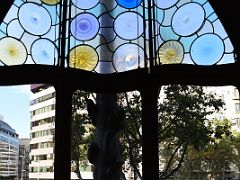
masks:
[[[238,177],[236,87],[163,86],[158,112],[160,179]]]

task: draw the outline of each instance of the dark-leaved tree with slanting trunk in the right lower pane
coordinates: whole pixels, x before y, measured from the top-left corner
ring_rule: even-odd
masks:
[[[163,162],[160,179],[177,172],[189,146],[199,150],[209,143],[212,131],[206,116],[224,103],[203,87],[170,85],[163,88],[159,102],[159,156]]]

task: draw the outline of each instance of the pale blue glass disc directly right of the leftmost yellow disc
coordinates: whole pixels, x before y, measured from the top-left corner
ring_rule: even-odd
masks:
[[[56,46],[48,39],[38,39],[31,47],[32,58],[36,64],[54,65],[54,59],[58,59]]]

